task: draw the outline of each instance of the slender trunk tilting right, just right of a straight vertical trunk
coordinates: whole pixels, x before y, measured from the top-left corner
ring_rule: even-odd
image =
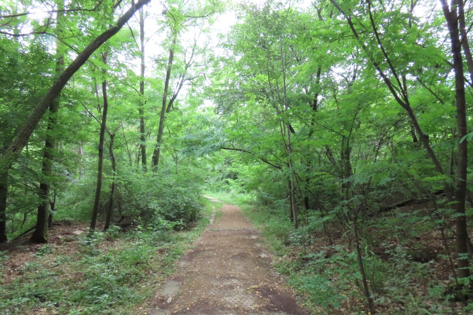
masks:
[[[156,147],[154,149],[153,158],[151,161],[151,166],[155,172],[158,170],[159,156],[161,154],[161,142],[163,140],[164,121],[166,119],[166,112],[168,108],[167,94],[169,92],[169,81],[171,79],[172,63],[174,60],[174,46],[176,45],[176,43],[177,31],[174,32],[171,48],[169,48],[169,59],[167,61],[166,78],[164,81],[163,101],[161,104],[161,114],[159,117],[158,135],[156,136]]]

